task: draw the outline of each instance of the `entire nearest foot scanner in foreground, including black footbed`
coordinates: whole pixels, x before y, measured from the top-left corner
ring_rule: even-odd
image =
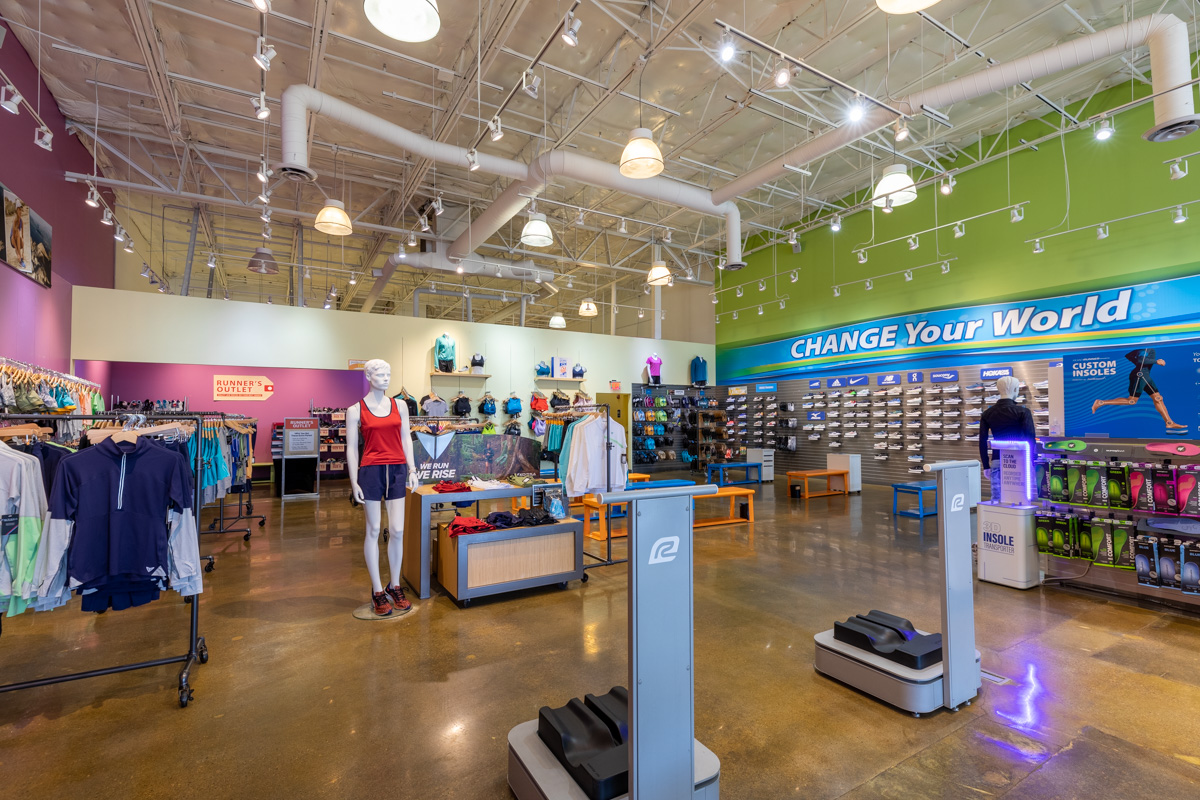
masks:
[[[629,504],[628,705],[617,687],[544,706],[512,728],[509,787],[518,800],[720,796],[720,759],[694,739],[692,675],[692,498],[715,492],[598,495],[601,505]]]

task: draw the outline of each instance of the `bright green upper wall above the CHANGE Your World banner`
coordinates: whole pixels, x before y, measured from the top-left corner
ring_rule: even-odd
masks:
[[[1139,92],[1145,95],[1148,89],[1140,88]],[[1086,115],[1129,100],[1128,85],[1114,89],[1093,98]],[[1055,122],[1055,115],[1046,121]],[[742,297],[736,297],[732,289],[718,293],[718,349],[886,315],[1054,296],[1195,272],[1200,264],[1196,247],[1200,243],[1200,205],[1189,210],[1193,218],[1184,224],[1172,224],[1170,215],[1163,212],[1114,223],[1109,239],[1096,239],[1094,225],[1100,222],[1200,198],[1200,157],[1192,160],[1194,174],[1178,181],[1169,179],[1168,167],[1162,163],[1200,150],[1200,134],[1175,143],[1151,144],[1141,134],[1152,121],[1152,106],[1145,103],[1116,118],[1116,134],[1108,142],[1097,142],[1090,128],[1076,131],[1040,144],[1037,152],[1021,150],[1010,158],[959,175],[958,186],[948,197],[928,186],[919,191],[914,203],[890,215],[860,211],[845,218],[838,234],[827,225],[803,234],[799,254],[793,254],[786,243],[754,253],[746,258],[746,269],[719,273],[719,289],[755,283],[744,287]],[[1052,130],[1046,122],[1033,121],[1002,137],[1008,136],[1018,144],[1020,138],[1033,140]],[[1070,176],[1069,224],[1064,221],[1063,143]],[[985,152],[988,144],[990,140]],[[1003,149],[1002,142],[996,150]],[[882,169],[889,162],[878,163]],[[960,156],[954,167],[970,163]],[[913,169],[910,174],[920,175]],[[1021,200],[1028,200],[1028,205],[1020,223],[1012,223],[1008,212],[1000,212],[967,222],[966,235],[961,239],[954,239],[952,230],[946,228],[936,236],[932,233],[922,235],[917,251],[910,251],[901,240],[869,251],[866,264],[859,264],[854,255],[858,247],[872,241],[907,236]],[[1039,234],[1084,225],[1090,229],[1048,240],[1042,254],[1034,254],[1032,245],[1026,243]],[[751,240],[746,249],[761,243],[761,240]],[[841,296],[833,296],[835,283],[862,281],[947,258],[958,259],[950,263],[947,275],[934,266],[914,272],[912,282],[895,275],[875,279],[870,291],[858,283],[844,285]],[[792,270],[799,270],[796,283],[790,282]],[[756,285],[760,278],[767,282],[766,291]],[[786,308],[780,309],[778,300],[784,296],[788,300]],[[758,302],[763,305],[762,315],[755,308],[746,308]],[[736,308],[742,309],[738,320],[728,313]]]

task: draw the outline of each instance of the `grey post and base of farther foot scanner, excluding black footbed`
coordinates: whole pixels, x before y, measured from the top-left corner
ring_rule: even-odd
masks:
[[[979,693],[979,651],[974,648],[974,576],[971,565],[971,483],[977,461],[925,464],[937,473],[937,533],[942,564],[942,660],[912,669],[817,633],[817,672],[895,705],[913,716],[940,708],[958,710]],[[926,633],[918,631],[918,633]]]

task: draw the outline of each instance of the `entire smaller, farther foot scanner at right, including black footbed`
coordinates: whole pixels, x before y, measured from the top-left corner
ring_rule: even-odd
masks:
[[[942,632],[872,610],[817,633],[817,672],[914,716],[956,710],[979,693],[971,569],[971,487],[977,461],[925,464],[937,474],[937,533],[942,566]]]

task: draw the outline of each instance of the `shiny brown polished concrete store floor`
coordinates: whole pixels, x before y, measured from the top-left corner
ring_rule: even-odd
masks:
[[[1200,796],[1200,621],[1060,589],[976,588],[980,698],[913,718],[812,669],[812,634],[881,608],[940,622],[934,518],[888,489],[790,500],[696,535],[696,736],[722,798]],[[211,661],[180,709],[160,667],[0,694],[0,796],[510,798],[505,734],[626,678],[625,569],[367,622],[362,516],[334,486],[259,501],[200,604]],[[4,621],[0,682],[174,655],[187,607]]]

